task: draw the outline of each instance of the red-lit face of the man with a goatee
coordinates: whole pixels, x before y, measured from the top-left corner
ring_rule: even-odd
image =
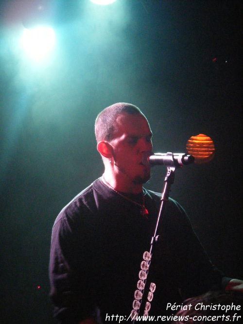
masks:
[[[142,164],[144,153],[152,153],[152,132],[147,119],[141,115],[118,115],[114,124],[113,148],[115,172],[134,184],[150,179],[150,168]]]

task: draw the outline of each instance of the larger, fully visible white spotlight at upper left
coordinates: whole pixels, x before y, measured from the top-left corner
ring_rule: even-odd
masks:
[[[52,50],[55,34],[52,28],[38,26],[34,29],[24,29],[21,43],[25,51],[36,60],[43,58]]]

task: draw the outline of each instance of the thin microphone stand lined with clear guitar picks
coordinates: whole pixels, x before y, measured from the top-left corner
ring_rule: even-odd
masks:
[[[171,153],[172,154],[172,153]],[[135,300],[133,302],[133,310],[131,312],[131,319],[133,320],[133,323],[136,321],[137,317],[139,316],[139,312],[144,308],[143,316],[148,316],[148,311],[150,310],[151,304],[150,302],[153,299],[153,293],[156,290],[156,284],[151,283],[149,289],[146,289],[147,293],[147,299],[145,299],[146,296],[143,293],[145,291],[147,276],[149,272],[149,267],[151,263],[151,258],[153,255],[153,250],[156,242],[159,241],[159,235],[157,235],[157,228],[160,221],[160,218],[163,217],[165,212],[165,207],[167,205],[167,202],[169,200],[169,193],[171,185],[174,183],[174,173],[176,168],[181,166],[175,166],[173,161],[173,154],[171,155],[171,162],[169,162],[169,166],[167,166],[167,173],[164,180],[164,189],[161,196],[161,205],[158,213],[158,218],[154,230],[154,236],[151,239],[150,243],[150,250],[149,252],[144,252],[143,254],[143,261],[141,262],[141,271],[139,272],[139,281],[137,284],[138,290],[135,291]],[[148,285],[147,285],[148,286]],[[146,286],[146,288],[147,288]]]

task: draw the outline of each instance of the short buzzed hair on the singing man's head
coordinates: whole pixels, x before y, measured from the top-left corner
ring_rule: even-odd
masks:
[[[114,123],[117,116],[124,113],[129,115],[143,115],[137,106],[126,102],[114,103],[105,108],[99,113],[95,120],[95,137],[97,143],[102,140],[110,141],[113,139]]]

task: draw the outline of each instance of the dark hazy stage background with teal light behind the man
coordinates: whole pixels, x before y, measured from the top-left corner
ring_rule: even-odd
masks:
[[[22,23],[36,21],[56,35],[41,62],[18,45]],[[241,75],[241,1],[1,2],[1,323],[52,323],[52,224],[101,176],[94,119],[114,102],[141,108],[154,152],[185,152],[199,133],[212,138],[213,160],[177,170],[171,197],[212,261],[243,278]],[[146,188],[161,192],[165,173],[153,168]]]

